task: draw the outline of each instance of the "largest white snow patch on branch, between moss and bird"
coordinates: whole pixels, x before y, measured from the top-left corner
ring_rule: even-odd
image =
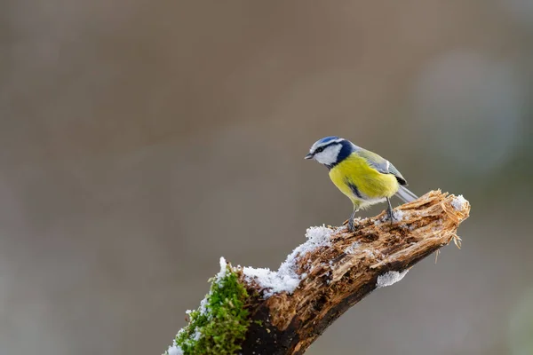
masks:
[[[329,246],[332,232],[332,229],[324,225],[308,228],[306,231],[307,241],[292,250],[277,272],[268,268],[243,267],[243,274],[249,282],[256,281],[263,288],[265,297],[283,291],[292,293],[298,288],[300,281],[306,278],[306,273],[300,276],[295,271],[298,258],[316,248]]]

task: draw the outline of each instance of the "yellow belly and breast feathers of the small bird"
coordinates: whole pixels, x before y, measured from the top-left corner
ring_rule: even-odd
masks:
[[[330,178],[357,208],[392,197],[399,187],[394,175],[380,173],[357,154],[350,155],[333,167],[330,170]],[[355,195],[350,185],[357,188],[361,197]]]

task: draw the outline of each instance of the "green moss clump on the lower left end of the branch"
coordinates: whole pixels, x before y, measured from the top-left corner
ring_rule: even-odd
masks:
[[[189,313],[189,324],[176,335],[184,355],[233,355],[241,350],[250,325],[244,308],[248,293],[231,267],[227,265],[223,276],[210,281],[210,293],[198,310]]]

